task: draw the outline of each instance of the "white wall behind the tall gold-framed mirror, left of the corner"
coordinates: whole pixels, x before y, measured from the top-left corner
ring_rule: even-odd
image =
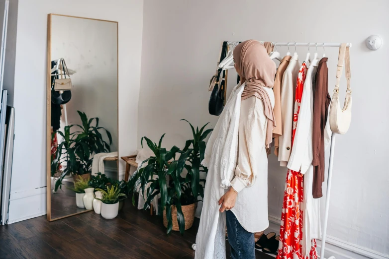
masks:
[[[46,214],[48,13],[119,22],[119,156],[136,150],[143,1],[19,0],[10,223]]]

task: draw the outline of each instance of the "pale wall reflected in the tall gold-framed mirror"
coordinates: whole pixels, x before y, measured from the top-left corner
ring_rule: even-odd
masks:
[[[67,67],[75,71],[71,75],[72,99],[66,104],[68,124],[81,124],[77,111],[98,117],[99,127],[112,135],[111,151],[117,151],[117,24],[58,15],[51,20],[51,60],[64,58]],[[61,130],[64,111],[62,115]]]

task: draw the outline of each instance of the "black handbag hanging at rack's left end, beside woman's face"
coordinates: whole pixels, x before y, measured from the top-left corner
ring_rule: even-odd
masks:
[[[219,63],[226,57],[226,55],[227,55],[227,42],[225,41],[223,42]],[[211,96],[209,97],[208,112],[210,115],[219,116],[223,111],[225,90],[226,90],[224,76],[225,76],[225,70],[219,68],[217,70],[217,76],[214,75],[211,78],[210,83],[212,82],[214,77],[216,77],[216,83],[215,86],[213,87]]]

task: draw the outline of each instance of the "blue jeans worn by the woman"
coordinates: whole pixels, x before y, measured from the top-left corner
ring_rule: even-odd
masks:
[[[255,259],[254,233],[245,230],[230,210],[226,211],[225,217],[228,242],[231,246],[231,258]]]

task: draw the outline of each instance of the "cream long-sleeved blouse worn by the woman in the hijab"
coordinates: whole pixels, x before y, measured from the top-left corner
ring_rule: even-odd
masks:
[[[267,90],[272,108],[274,94]],[[231,211],[248,232],[268,228],[268,157],[265,138],[268,119],[263,101],[250,97],[241,101],[238,137],[238,162],[231,186],[238,192]]]

